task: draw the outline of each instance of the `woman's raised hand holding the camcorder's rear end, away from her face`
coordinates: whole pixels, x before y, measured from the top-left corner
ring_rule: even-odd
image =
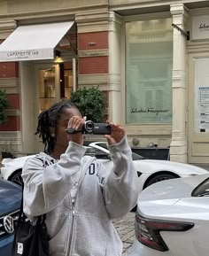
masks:
[[[110,120],[106,121],[107,124],[111,126],[111,135],[105,135],[109,145],[118,144],[122,138],[126,135],[125,129],[122,128],[119,124],[113,124]]]

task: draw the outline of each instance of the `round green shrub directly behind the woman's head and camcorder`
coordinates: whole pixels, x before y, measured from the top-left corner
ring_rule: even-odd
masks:
[[[99,122],[104,119],[106,100],[98,87],[77,89],[72,93],[71,101],[78,106],[87,120]]]

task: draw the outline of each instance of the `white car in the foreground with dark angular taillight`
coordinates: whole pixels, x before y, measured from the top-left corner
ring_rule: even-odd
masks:
[[[128,256],[208,256],[209,173],[140,193]]]

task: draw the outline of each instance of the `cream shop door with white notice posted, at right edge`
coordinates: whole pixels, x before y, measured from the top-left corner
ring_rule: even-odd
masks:
[[[189,163],[209,163],[209,52],[189,55]]]

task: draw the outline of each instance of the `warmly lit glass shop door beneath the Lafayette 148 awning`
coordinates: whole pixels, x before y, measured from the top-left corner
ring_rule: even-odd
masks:
[[[72,62],[35,65],[35,128],[37,116],[51,105],[69,99],[74,90],[74,70]],[[42,151],[43,144],[38,140],[36,151]]]

